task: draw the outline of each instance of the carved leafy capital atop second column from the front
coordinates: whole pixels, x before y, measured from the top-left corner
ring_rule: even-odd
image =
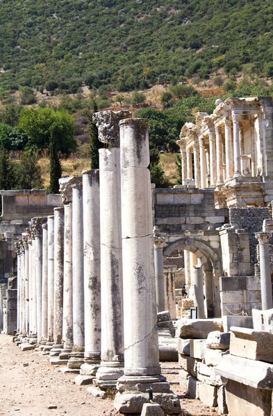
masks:
[[[128,110],[107,110],[94,113],[93,123],[99,130],[99,141],[119,147],[119,121],[130,119],[131,116],[132,113]]]

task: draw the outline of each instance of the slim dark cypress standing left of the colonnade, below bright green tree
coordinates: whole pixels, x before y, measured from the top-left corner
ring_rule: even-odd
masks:
[[[59,193],[59,179],[62,176],[62,166],[58,155],[58,143],[56,135],[51,132],[49,141],[49,158],[50,158],[50,185],[49,193]]]

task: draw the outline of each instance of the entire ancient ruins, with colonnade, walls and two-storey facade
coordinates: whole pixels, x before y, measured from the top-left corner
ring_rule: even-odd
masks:
[[[172,189],[151,184],[147,121],[105,111],[99,170],[1,191],[1,331],[120,413],[180,414],[160,370],[178,361],[189,397],[272,414],[273,101],[215,104],[183,126]]]

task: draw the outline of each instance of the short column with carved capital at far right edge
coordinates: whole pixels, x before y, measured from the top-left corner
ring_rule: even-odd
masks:
[[[269,243],[272,233],[258,232],[255,236],[256,239],[258,239],[260,250],[260,291],[262,295],[262,309],[272,309],[272,281],[269,252]]]

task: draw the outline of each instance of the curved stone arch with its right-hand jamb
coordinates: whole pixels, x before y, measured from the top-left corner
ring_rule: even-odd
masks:
[[[163,256],[169,256],[176,248],[182,248],[194,253],[204,266],[206,271],[212,270],[212,295],[213,295],[213,315],[221,317],[220,307],[220,276],[222,275],[222,263],[220,256],[210,247],[206,241],[192,237],[183,237],[170,243],[163,250]],[[208,264],[207,264],[208,263]],[[210,266],[211,265],[211,266]]]

